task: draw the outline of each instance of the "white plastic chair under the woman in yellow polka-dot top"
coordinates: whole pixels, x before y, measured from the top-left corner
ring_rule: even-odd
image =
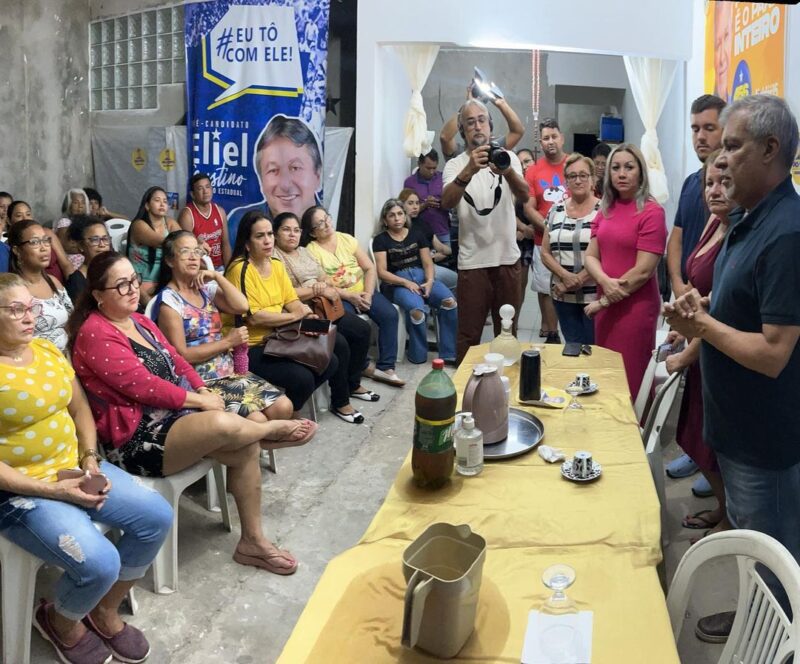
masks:
[[[105,534],[111,528],[94,522],[95,528]],[[0,537],[0,568],[3,581],[3,662],[30,664],[31,622],[36,592],[36,573],[44,561],[18,547],[11,540]],[[131,613],[138,609],[133,588],[128,591]]]

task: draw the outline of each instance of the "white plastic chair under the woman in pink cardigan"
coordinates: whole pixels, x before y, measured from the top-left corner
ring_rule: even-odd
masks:
[[[142,483],[160,493],[175,511],[167,539],[153,561],[153,585],[155,592],[169,594],[178,589],[178,501],[186,488],[194,484],[212,471],[216,483],[219,505],[222,512],[222,523],[230,532],[231,515],[228,509],[228,497],[225,492],[225,473],[223,467],[211,459],[203,459],[193,466],[169,477],[140,477]]]

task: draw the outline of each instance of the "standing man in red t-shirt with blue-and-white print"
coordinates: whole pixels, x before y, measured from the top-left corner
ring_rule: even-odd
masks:
[[[544,220],[553,204],[560,203],[567,191],[564,182],[564,162],[567,160],[567,155],[564,154],[564,135],[555,119],[547,118],[539,123],[539,142],[544,158],[525,171],[525,180],[530,187],[525,213],[534,227],[531,288],[539,296],[539,309],[542,312],[539,336],[545,337],[545,343],[558,344],[561,343],[561,338],[558,336],[558,316],[550,298],[550,272],[542,263],[540,255]]]

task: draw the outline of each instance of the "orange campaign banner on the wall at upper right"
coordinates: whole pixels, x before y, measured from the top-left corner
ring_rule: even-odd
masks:
[[[705,91],[734,101],[784,94],[786,7],[771,2],[706,3]]]

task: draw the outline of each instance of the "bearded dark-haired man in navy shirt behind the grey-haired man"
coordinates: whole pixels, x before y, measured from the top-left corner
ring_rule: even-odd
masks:
[[[725,102],[714,95],[702,95],[692,102],[690,109],[692,147],[702,163],[705,163],[706,157],[718,149],[722,142],[719,114],[723,108]],[[701,168],[692,173],[683,181],[678,211],[675,213],[667,242],[667,271],[675,297],[680,297],[689,290],[686,259],[700,241],[700,235],[708,221],[708,208],[703,198],[704,185],[701,182],[702,170]],[[688,477],[697,470],[697,464],[689,458],[689,455],[682,454],[667,466],[667,475],[675,478]],[[692,490],[698,496],[713,495],[705,477],[697,480]]]

